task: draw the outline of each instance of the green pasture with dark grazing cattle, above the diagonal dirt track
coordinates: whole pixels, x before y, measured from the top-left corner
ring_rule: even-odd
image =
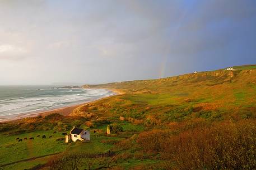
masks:
[[[48,138],[42,139],[41,136],[36,137],[39,134],[41,136],[44,134]],[[53,138],[49,138],[50,135],[53,135]],[[34,139],[29,140],[30,137],[34,137]],[[27,138],[27,140],[18,142],[16,138]],[[67,148],[67,144],[65,144],[63,140],[56,141],[58,138],[63,138],[63,135],[59,133],[53,134],[53,130],[35,131],[18,135],[2,133],[0,139],[0,165],[20,161],[22,159],[63,152],[63,150]],[[8,153],[8,157],[6,153]]]

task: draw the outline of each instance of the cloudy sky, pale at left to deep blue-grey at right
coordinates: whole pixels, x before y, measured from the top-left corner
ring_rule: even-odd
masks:
[[[0,85],[158,79],[256,64],[255,0],[0,0]]]

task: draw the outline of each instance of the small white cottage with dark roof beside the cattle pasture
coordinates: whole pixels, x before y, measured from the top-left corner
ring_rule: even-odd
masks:
[[[66,143],[68,143],[70,139],[73,140],[73,142],[76,142],[76,140],[91,140],[90,130],[73,127],[69,134],[66,135]]]

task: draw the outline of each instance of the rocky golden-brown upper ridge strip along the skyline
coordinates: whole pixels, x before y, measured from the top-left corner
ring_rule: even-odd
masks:
[[[245,66],[233,66],[235,70],[233,71],[225,71],[225,69],[216,70],[216,71],[203,71],[166,77],[162,79],[155,80],[136,80],[136,81],[123,81],[123,82],[112,82],[108,84],[99,84],[99,85],[83,85],[83,88],[109,88],[109,89],[122,89],[122,90],[139,90],[139,89],[151,89],[153,91],[158,91],[160,89],[167,89],[160,86],[166,85],[179,85],[183,83],[189,83],[196,85],[199,82],[205,81],[208,85],[223,84],[226,81],[236,80],[242,75],[246,75],[247,77],[252,77],[256,71],[256,65],[245,65]],[[240,77],[240,78],[241,78]],[[245,78],[245,77],[244,77]],[[243,78],[242,78],[243,79]],[[247,81],[248,79],[246,79]],[[253,81],[253,80],[252,80]],[[154,84],[158,85],[156,88]],[[153,86],[150,86],[153,85]],[[160,88],[160,89],[159,89]]]

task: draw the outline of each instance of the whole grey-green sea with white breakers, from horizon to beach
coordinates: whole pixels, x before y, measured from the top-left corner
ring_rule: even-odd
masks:
[[[0,122],[114,95],[105,89],[0,86]],[[22,116],[21,116],[22,115]]]

